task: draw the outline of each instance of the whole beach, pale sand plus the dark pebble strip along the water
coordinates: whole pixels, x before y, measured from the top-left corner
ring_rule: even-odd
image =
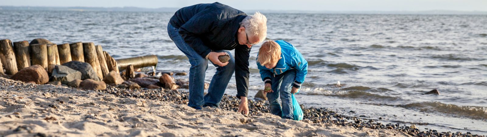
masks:
[[[58,132],[64,133],[60,136],[388,137],[413,134],[415,136],[476,137],[476,135],[459,132],[421,131],[415,126],[383,125],[372,119],[343,116],[326,108],[303,108],[305,116],[301,121],[281,119],[268,113],[268,103],[264,100],[253,99],[249,99],[249,109],[253,111],[245,117],[235,112],[240,100],[228,95],[224,96],[221,109],[205,108],[197,111],[186,105],[187,92],[176,90],[129,90],[109,86],[106,90],[85,91],[50,84],[23,83],[6,78],[0,78],[0,83],[0,95],[3,95],[0,97],[3,98],[0,102],[0,123],[4,123],[1,129],[6,129],[0,130],[2,136],[11,134],[27,136],[39,133],[39,135],[50,136],[51,132],[42,131],[54,130],[44,127],[56,123],[54,127],[58,128]],[[220,117],[226,119],[218,120],[222,119]],[[146,119],[141,120],[141,118]],[[133,119],[137,120],[134,122]],[[150,119],[150,124],[146,123],[147,119]],[[189,123],[192,126],[189,126]],[[146,129],[139,129],[141,125]],[[188,129],[185,130],[188,133],[172,130],[182,127]],[[100,128],[110,132],[97,131]],[[204,130],[201,134],[203,131],[196,132],[195,129],[213,130]],[[224,133],[228,130],[231,132]],[[79,134],[72,134],[73,131]],[[238,134],[233,133],[235,131],[238,131]],[[91,132],[99,134],[91,135],[89,134]]]

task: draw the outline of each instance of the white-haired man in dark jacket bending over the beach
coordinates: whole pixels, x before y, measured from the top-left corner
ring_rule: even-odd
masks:
[[[176,11],[169,20],[168,34],[189,59],[189,102],[195,109],[218,107],[226,86],[235,72],[238,112],[248,114],[248,58],[252,45],[267,35],[267,19],[261,13],[247,16],[244,12],[218,2],[196,4]],[[235,59],[229,50],[235,49]],[[229,55],[222,63],[219,56]],[[216,73],[208,93],[203,96],[208,60]]]

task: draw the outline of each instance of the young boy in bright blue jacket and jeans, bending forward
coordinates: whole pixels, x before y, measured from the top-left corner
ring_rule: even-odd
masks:
[[[293,119],[291,94],[295,94],[308,73],[308,62],[284,40],[267,40],[257,55],[257,66],[265,83],[271,113]],[[281,96],[282,107],[278,98]]]

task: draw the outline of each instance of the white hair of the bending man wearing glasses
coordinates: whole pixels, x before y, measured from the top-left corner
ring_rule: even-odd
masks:
[[[259,43],[267,37],[267,18],[260,12],[255,12],[254,15],[245,17],[240,26],[245,27],[245,33],[250,36],[257,36]]]

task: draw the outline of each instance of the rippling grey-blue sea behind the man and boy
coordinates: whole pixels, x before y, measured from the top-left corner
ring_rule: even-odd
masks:
[[[267,38],[293,44],[308,61],[296,95],[304,107],[487,135],[487,15],[263,14]],[[156,55],[157,71],[188,72],[187,57],[167,33],[172,15],[0,10],[0,39],[94,42],[115,59]],[[255,62],[259,47],[249,59],[251,99],[264,88]],[[206,81],[214,73],[209,65]],[[433,89],[440,94],[424,94]],[[225,93],[236,95],[235,78]]]

